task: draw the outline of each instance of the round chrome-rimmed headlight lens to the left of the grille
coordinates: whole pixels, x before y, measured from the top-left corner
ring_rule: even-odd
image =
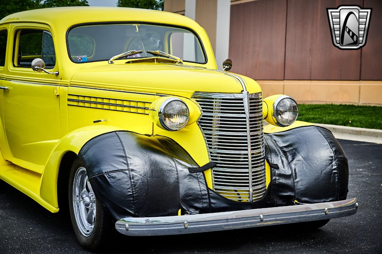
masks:
[[[187,105],[178,98],[170,98],[163,102],[158,112],[159,122],[168,131],[178,131],[189,119]]]

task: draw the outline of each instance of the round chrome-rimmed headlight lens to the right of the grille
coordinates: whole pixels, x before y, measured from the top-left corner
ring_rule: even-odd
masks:
[[[285,127],[294,123],[298,116],[298,106],[293,98],[283,95],[278,97],[274,103],[273,117],[277,125]]]

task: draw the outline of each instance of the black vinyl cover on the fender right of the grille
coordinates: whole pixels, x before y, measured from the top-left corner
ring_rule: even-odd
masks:
[[[265,133],[265,153],[271,163],[270,202],[273,206],[346,199],[348,159],[333,134],[319,126]]]

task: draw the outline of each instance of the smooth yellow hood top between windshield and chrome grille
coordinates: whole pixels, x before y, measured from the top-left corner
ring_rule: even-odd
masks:
[[[260,92],[253,79],[243,77],[249,92]],[[70,85],[95,86],[128,91],[153,92],[191,97],[195,91],[240,93],[237,79],[214,70],[163,63],[123,63],[80,69]]]

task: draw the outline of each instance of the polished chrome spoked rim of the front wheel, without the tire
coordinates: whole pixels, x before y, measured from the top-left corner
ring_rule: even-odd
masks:
[[[73,210],[78,229],[84,236],[90,236],[95,222],[95,196],[84,167],[74,175]]]

